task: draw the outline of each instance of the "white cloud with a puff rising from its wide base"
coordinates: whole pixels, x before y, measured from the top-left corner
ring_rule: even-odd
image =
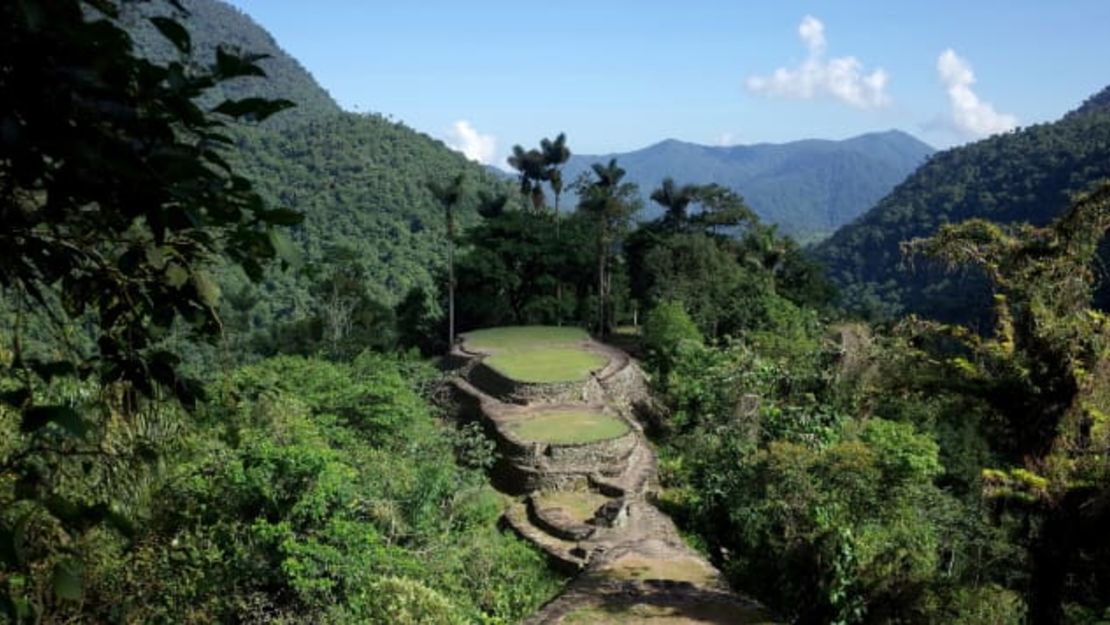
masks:
[[[825,58],[828,41],[820,20],[806,16],[798,26],[798,37],[809,50],[806,60],[797,68],[778,68],[771,75],[749,77],[749,91],[803,100],[831,95],[859,109],[890,103],[886,92],[890,77],[885,70],[865,74],[864,64],[855,57]]]

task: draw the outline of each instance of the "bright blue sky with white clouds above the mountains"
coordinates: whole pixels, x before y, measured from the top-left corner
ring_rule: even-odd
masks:
[[[1110,1],[232,0],[349,110],[500,163],[674,138],[937,147],[1050,121],[1110,84]]]

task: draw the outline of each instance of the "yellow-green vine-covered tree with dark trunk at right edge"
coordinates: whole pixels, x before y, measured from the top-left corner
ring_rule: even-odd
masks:
[[[1027,596],[1038,623],[1062,623],[1068,603],[1101,608],[1086,588],[1110,579],[1110,569],[1096,564],[1104,552],[1096,527],[1110,518],[1092,511],[1110,484],[1103,454],[1110,437],[1100,427],[1110,397],[1110,323],[1090,308],[1091,265],[1108,230],[1110,185],[1103,184],[1045,228],[970,220],[907,245],[978,268],[995,291],[991,337],[912,319],[906,326],[958,345],[962,353],[931,345],[947,356],[948,385],[981,397],[1001,422],[995,446],[1011,467],[985,471],[982,485],[1031,530],[1022,540],[1030,545]]]

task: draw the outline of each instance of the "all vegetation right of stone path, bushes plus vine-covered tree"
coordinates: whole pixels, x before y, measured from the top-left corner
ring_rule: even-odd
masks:
[[[989,276],[987,339],[909,317],[705,345],[656,309],[663,503],[798,623],[1103,622],[1110,343],[1090,302],[1108,226],[1103,187],[1046,228],[917,241]]]

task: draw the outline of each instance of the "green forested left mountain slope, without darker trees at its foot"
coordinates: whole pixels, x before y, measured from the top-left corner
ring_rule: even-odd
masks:
[[[467,172],[472,199],[460,206],[463,225],[475,215],[474,191],[511,190],[442,142],[381,115],[342,111],[296,59],[234,7],[219,0],[185,0],[183,6],[195,61],[212,62],[218,44],[270,57],[260,62],[265,79],[222,84],[213,102],[260,97],[297,104],[261,127],[235,128],[238,147],[229,154],[273,205],[305,213],[305,222],[293,233],[305,265],[295,274],[274,275],[269,284],[268,298],[285,302],[279,309],[295,311],[295,302],[305,300],[306,290],[340,256],[346,265],[356,265],[344,270],[359,274],[374,299],[385,303],[413,285],[430,285],[444,261],[445,224],[428,182]],[[143,54],[160,60],[175,54],[144,19],[170,11],[165,0],[158,0],[130,6],[123,13]]]

